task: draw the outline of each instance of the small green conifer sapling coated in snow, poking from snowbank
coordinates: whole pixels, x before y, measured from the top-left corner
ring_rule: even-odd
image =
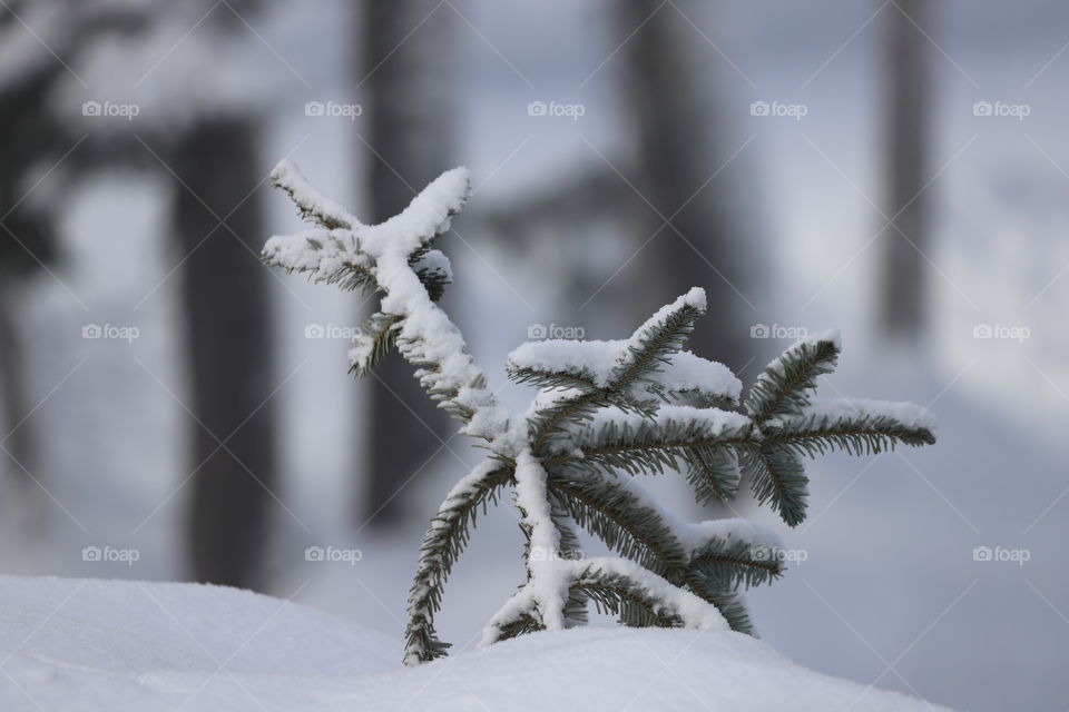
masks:
[[[816,378],[838,358],[834,332],[788,348],[742,397],[727,367],[683,350],[706,309],[699,288],[622,340],[523,344],[509,356],[508,375],[538,395],[526,413],[510,414],[437,304],[452,271],[435,241],[468,198],[464,169],[443,174],[380,225],[363,225],[285,161],[272,178],[314,227],[271,238],[265,263],[381,293],[350,352],[352,369],[365,374],[396,348],[430,397],[489,452],[449,492],[423,537],[409,599],[409,664],[445,653],[434,633],[442,589],[477,513],[507,488],[526,536],[527,576],[491,616],[484,644],[580,624],[591,602],[628,625],[748,632],[739,589],[782,573],[776,535],[737,518],[681,522],[626,475],[683,472],[704,504],[735,497],[745,473],[757,501],[794,526],[806,508],[802,456],[935,442],[918,406],[812,399]],[[577,525],[617,555],[583,556]]]

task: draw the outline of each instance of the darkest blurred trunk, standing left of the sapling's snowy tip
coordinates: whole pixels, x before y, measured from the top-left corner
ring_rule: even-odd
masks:
[[[188,530],[193,575],[243,587],[257,584],[267,488],[277,481],[269,310],[257,259],[264,229],[258,196],[245,199],[259,181],[256,137],[249,120],[206,120],[179,138],[171,161],[188,186],[175,186],[180,250],[193,250],[183,283],[190,408],[200,422],[192,426],[199,466]],[[232,210],[233,234],[216,228],[215,216]]]

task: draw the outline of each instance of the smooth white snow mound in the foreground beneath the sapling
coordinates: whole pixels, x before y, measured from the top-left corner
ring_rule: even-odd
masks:
[[[401,669],[400,641],[218,586],[6,576],[0,616],[14,712],[945,709],[733,632],[588,627]]]

